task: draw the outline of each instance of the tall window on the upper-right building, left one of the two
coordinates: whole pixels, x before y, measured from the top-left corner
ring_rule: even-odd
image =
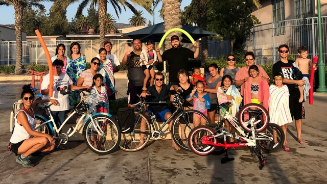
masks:
[[[285,7],[284,0],[271,0],[274,35],[285,34]],[[282,21],[282,22],[280,22]]]

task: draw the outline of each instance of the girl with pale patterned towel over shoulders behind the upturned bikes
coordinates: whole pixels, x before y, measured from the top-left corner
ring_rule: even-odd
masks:
[[[238,89],[234,86],[231,86],[232,78],[230,75],[224,75],[222,78],[222,87],[219,87],[217,90],[218,103],[222,104],[225,102],[230,102],[229,105],[229,114],[236,116],[239,111],[240,104],[242,102],[242,96],[239,93]],[[220,115],[223,116],[226,113],[226,109],[220,109]],[[222,118],[222,117],[221,117]],[[230,127],[230,124],[225,120],[225,128],[227,128],[229,133],[235,133],[235,128]],[[233,139],[230,138],[230,142],[233,142]]]

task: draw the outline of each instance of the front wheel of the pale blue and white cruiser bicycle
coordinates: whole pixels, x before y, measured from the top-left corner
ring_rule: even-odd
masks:
[[[93,116],[94,123],[101,128],[98,134],[91,119],[89,119],[83,128],[84,140],[86,145],[95,153],[109,154],[113,152],[119,145],[121,139],[121,129],[116,121],[107,115],[99,114]]]

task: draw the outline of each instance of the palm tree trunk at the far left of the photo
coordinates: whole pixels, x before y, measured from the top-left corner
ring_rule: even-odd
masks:
[[[21,29],[22,29],[22,6],[14,6],[15,10],[15,30],[16,30],[16,68],[15,74],[22,74],[21,61]]]

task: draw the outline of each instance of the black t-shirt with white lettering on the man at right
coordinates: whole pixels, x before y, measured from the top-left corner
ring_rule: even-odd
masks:
[[[277,63],[272,65],[272,73],[282,73],[284,78],[288,78],[290,80],[294,80],[293,77],[293,63],[295,61],[287,60],[288,63],[283,63],[281,60],[279,60]],[[288,90],[290,92],[290,95],[296,94],[298,91],[295,84],[286,84],[288,87]]]

